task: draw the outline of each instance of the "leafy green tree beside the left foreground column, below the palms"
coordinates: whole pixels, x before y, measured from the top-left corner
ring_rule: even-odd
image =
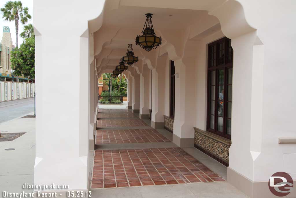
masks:
[[[35,79],[35,37],[25,39],[20,48],[12,50],[11,65],[14,75]]]

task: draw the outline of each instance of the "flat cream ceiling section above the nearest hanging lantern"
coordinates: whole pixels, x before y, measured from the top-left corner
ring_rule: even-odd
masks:
[[[207,16],[207,11],[204,10],[120,6],[118,9],[108,10],[104,13],[103,24],[120,28],[139,28],[139,33],[141,33],[146,13],[153,14],[154,29],[163,27],[184,29]]]

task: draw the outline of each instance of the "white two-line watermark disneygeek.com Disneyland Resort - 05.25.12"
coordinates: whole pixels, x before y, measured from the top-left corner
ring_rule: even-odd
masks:
[[[32,192],[9,192],[3,191],[3,197],[91,197],[91,191],[67,191],[69,185],[56,185],[54,183],[49,185],[35,185],[24,183],[22,189],[32,190]],[[57,190],[57,191],[54,191]]]

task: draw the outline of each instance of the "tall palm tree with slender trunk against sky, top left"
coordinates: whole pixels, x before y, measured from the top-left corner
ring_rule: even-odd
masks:
[[[15,34],[18,34],[18,23],[19,20],[22,24],[28,22],[31,19],[31,15],[28,13],[28,7],[22,7],[22,2],[20,1],[7,1],[1,12],[3,14],[2,18],[7,21],[15,21]],[[18,45],[17,45],[18,47]]]

